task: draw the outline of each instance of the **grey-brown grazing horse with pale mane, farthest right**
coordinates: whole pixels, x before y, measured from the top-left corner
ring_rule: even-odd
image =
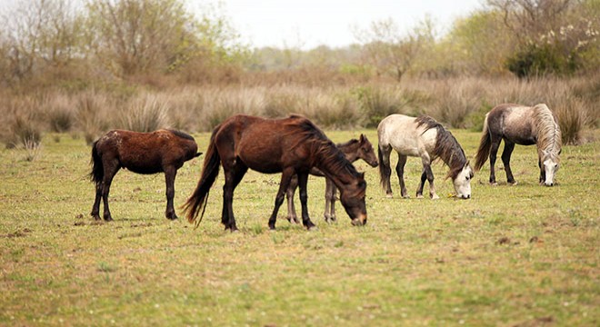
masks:
[[[537,144],[537,164],[540,184],[554,185],[555,173],[560,163],[561,132],[555,116],[545,104],[528,107],[520,104],[499,104],[485,114],[484,131],[475,159],[475,170],[481,169],[490,158],[490,183],[495,182],[495,158],[500,142],[505,140],[502,162],[506,180],[516,184],[510,168],[510,156],[515,144]]]

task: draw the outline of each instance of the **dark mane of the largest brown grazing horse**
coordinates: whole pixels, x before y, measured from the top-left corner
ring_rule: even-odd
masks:
[[[329,169],[345,171],[353,176],[359,175],[355,166],[345,159],[342,151],[313,122],[297,114],[292,114],[289,118],[294,118],[288,122],[290,126],[289,134],[294,134],[298,138],[295,144],[292,145],[292,149],[301,144],[311,144],[315,156],[321,157],[323,165]]]

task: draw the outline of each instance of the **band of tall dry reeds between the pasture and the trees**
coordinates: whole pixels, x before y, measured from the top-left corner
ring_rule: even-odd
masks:
[[[0,119],[14,125],[5,133],[5,143],[14,144],[17,134],[25,133],[19,132],[26,130],[25,123],[35,126],[31,129],[39,134],[84,134],[91,143],[112,128],[210,131],[232,114],[304,114],[324,128],[375,128],[388,114],[429,114],[448,127],[481,130],[485,113],[496,104],[545,103],[555,112],[565,144],[576,144],[582,141],[582,130],[598,126],[599,94],[600,74],[533,80],[406,79],[402,84],[205,85],[160,92],[134,90],[127,96],[105,89],[37,97],[5,94],[0,98]],[[13,141],[6,141],[8,136]]]

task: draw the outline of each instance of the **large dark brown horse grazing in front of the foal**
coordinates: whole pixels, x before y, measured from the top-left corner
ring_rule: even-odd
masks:
[[[194,223],[201,206],[204,216],[208,193],[215,183],[219,166],[225,171],[223,212],[225,230],[237,230],[233,198],[235,187],[248,168],[260,173],[282,173],[275,208],[269,218],[269,228],[275,229],[279,207],[292,176],[298,175],[302,223],[307,229],[315,226],[308,216],[306,182],[308,172],[316,167],[340,189],[341,202],[354,225],[366,223],[365,175],[358,173],[344,154],[315,124],[305,117],[292,115],[284,119],[265,119],[237,114],[215,127],[205,154],[202,176],[195,192],[185,203],[187,220]]]

